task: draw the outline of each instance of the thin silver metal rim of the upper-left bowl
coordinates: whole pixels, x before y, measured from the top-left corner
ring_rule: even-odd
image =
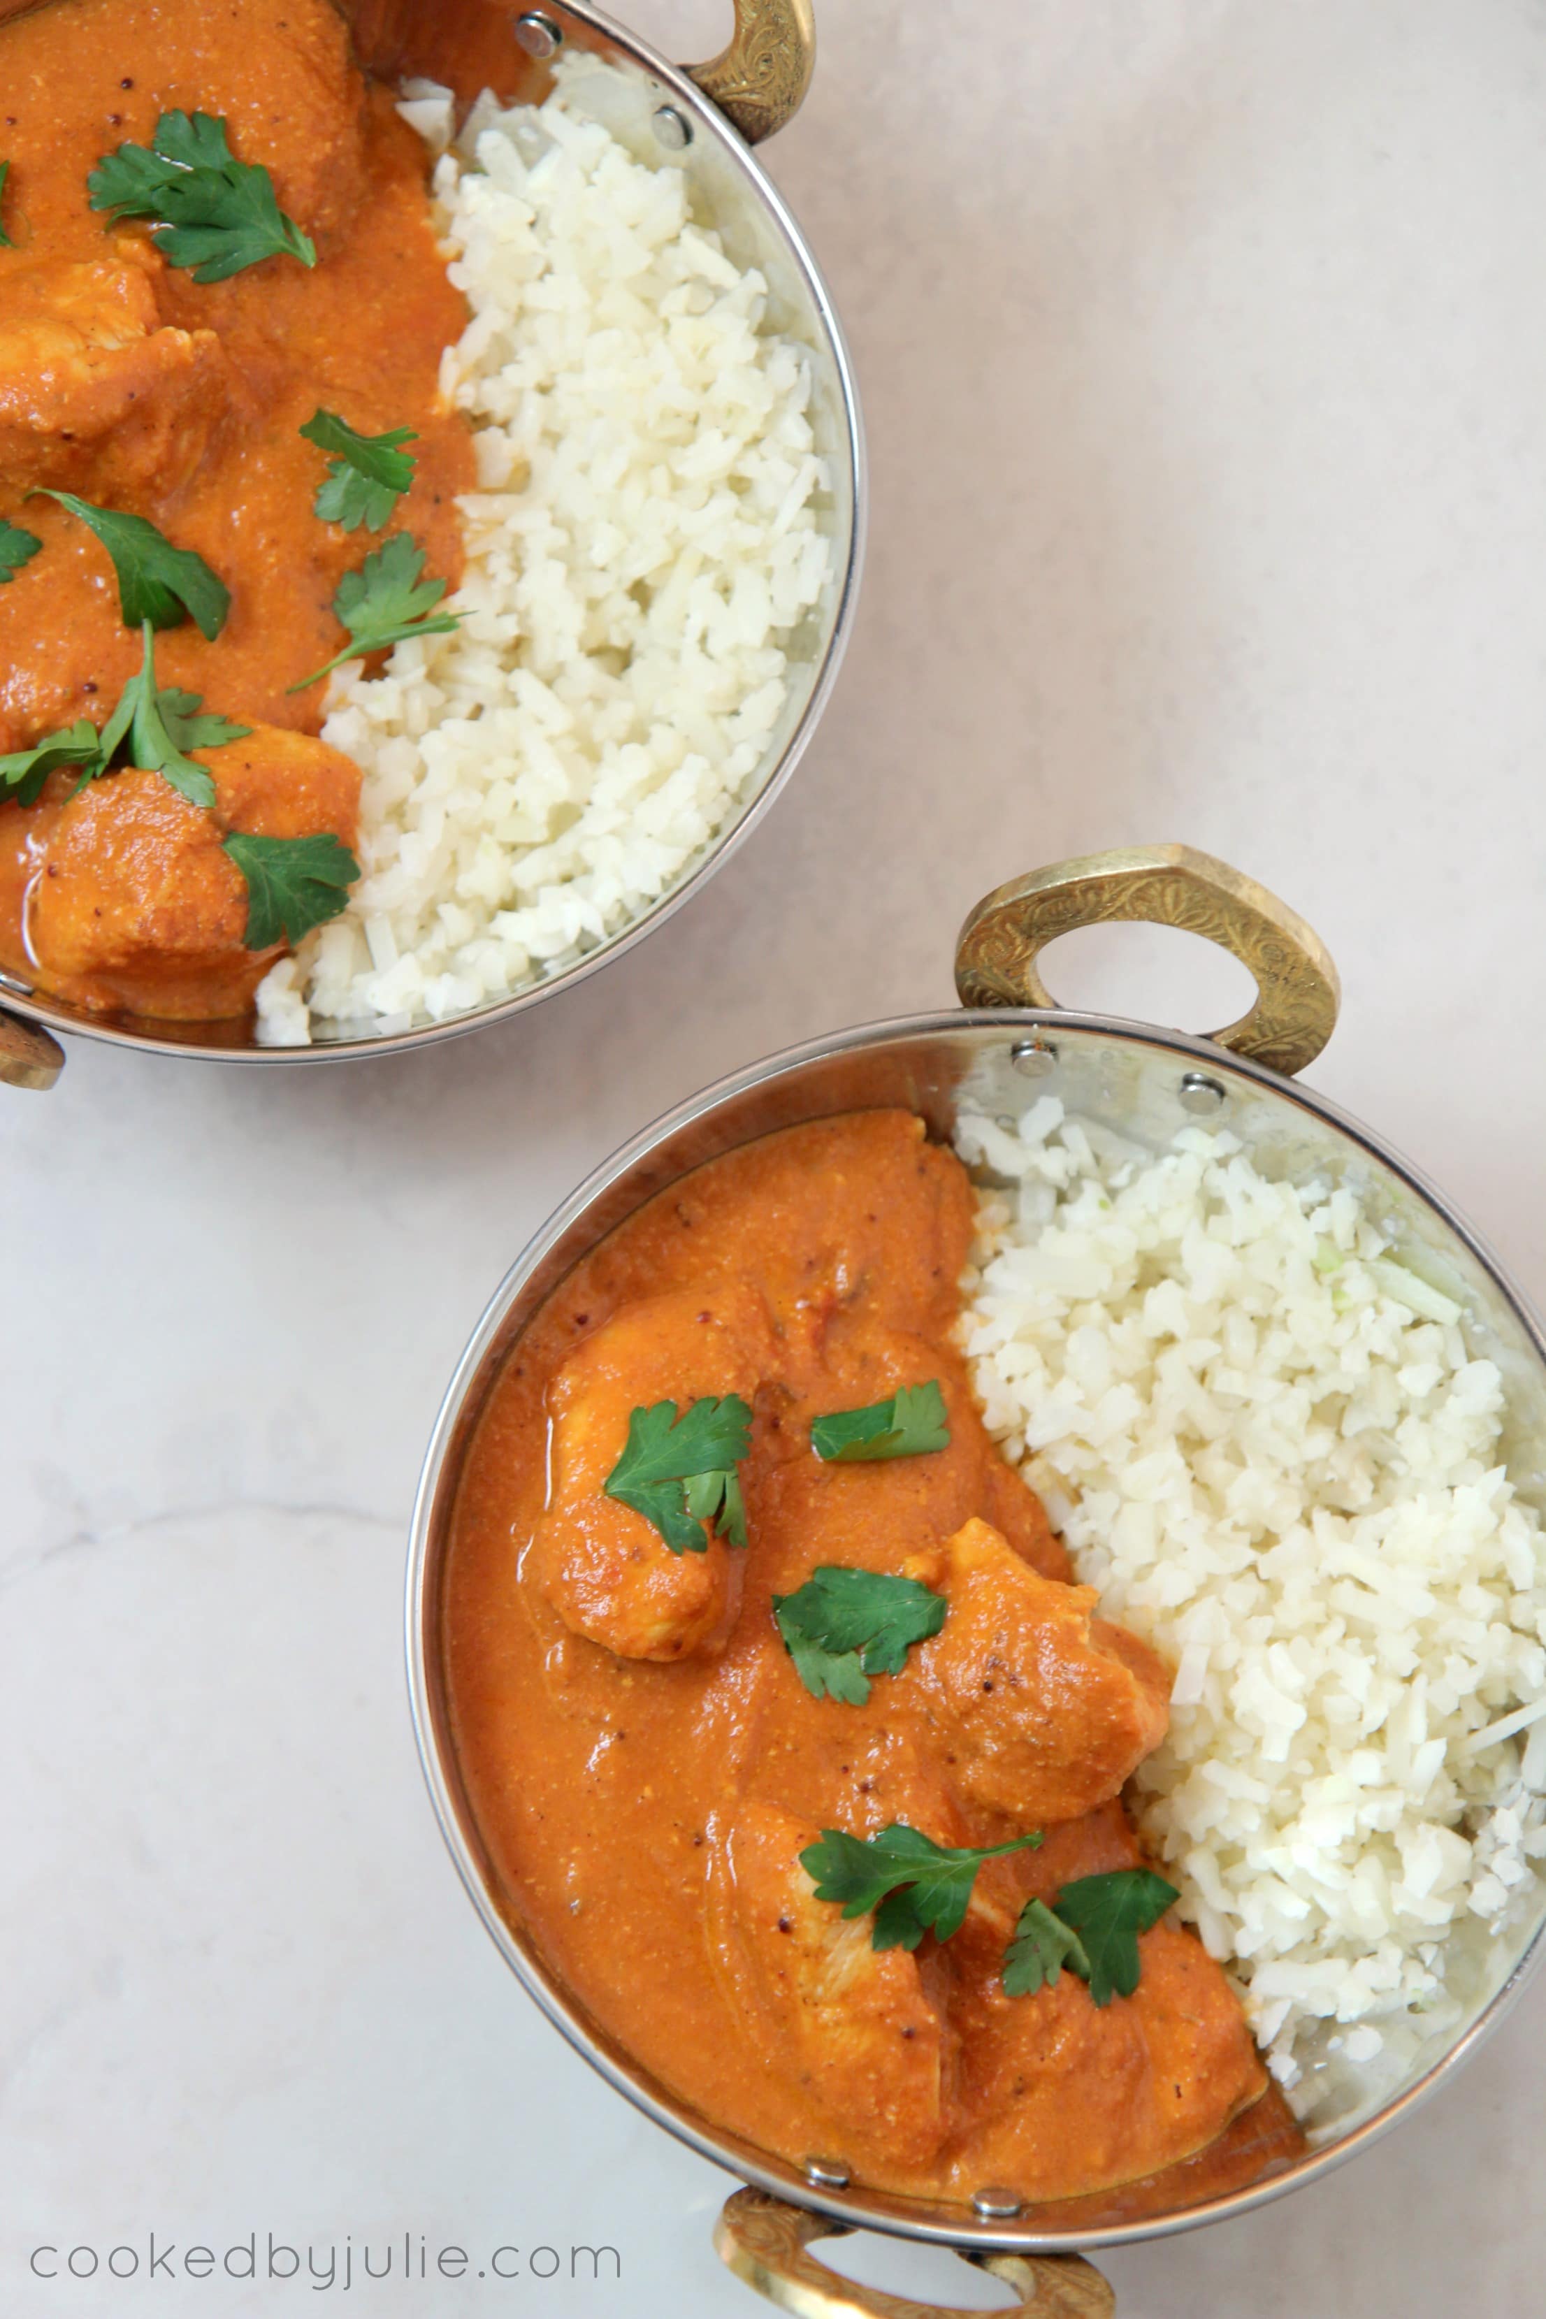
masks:
[[[832,624],[816,666],[816,682],[811,684],[800,719],[772,772],[751,805],[746,805],[739,821],[721,835],[709,837],[702,856],[681,872],[677,884],[668,888],[668,893],[658,895],[658,900],[654,900],[637,918],[621,925],[617,935],[598,942],[593,951],[575,958],[556,974],[547,974],[524,990],[494,999],[489,1006],[473,1006],[468,1013],[452,1016],[445,1023],[413,1023],[408,1030],[375,1032],[364,1039],[318,1039],[311,1046],[232,1046],[225,1041],[202,1041],[190,1037],[190,1032],[197,1030],[192,1023],[169,1023],[167,1030],[160,1032],[144,1027],[151,1020],[146,1016],[132,1016],[125,1020],[104,1016],[102,1020],[90,1020],[83,1013],[60,1006],[56,999],[46,997],[46,993],[39,995],[35,988],[25,988],[21,979],[9,972],[0,972],[0,1013],[19,1016],[25,1023],[35,1023],[65,1039],[95,1039],[104,1046],[134,1048],[144,1055],[172,1055],[183,1057],[185,1062],[234,1062],[294,1069],[318,1067],[324,1062],[369,1062],[382,1055],[406,1055],[415,1048],[440,1046],[445,1039],[464,1039],[471,1032],[487,1030],[491,1023],[508,1023],[515,1016],[526,1013],[526,1009],[538,1006],[542,999],[556,997],[559,990],[573,990],[577,983],[589,981],[591,974],[610,967],[614,960],[623,958],[626,951],[633,951],[635,944],[644,942],[661,925],[665,925],[665,921],[672,918],[684,902],[700,893],[716,870],[730,860],[746,837],[751,837],[816,737],[816,728],[827,710],[827,700],[832,698],[832,689],[853,635],[860,580],[865,570],[865,547],[869,538],[869,450],[865,441],[865,413],[860,406],[853,355],[848,352],[848,341],[844,336],[832,292],[821,267],[816,264],[816,255],[804,237],[804,230],[800,227],[800,220],[770,179],[758,151],[744,141],[739,130],[735,130],[728,116],[719,111],[714,100],[698,88],[686,67],[668,63],[656,49],[649,46],[647,39],[630,32],[628,26],[617,23],[617,19],[607,16],[603,9],[591,7],[589,0],[559,0],[559,5],[563,14],[579,16],[600,30],[633,65],[647,72],[649,79],[658,81],[663,95],[691,114],[695,132],[707,132],[721,148],[721,155],[746,174],[751,190],[760,197],[767,218],[781,234],[788,255],[809,290],[811,308],[825,332],[827,350],[832,355],[844,406],[841,441],[848,452],[853,501],[848,547],[841,573],[834,577]],[[216,1023],[213,1027],[220,1030],[225,1025]]]

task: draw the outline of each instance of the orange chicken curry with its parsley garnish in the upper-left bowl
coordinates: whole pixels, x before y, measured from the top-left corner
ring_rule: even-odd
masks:
[[[359,772],[315,737],[304,679],[350,645],[341,584],[392,538],[454,587],[473,482],[436,387],[466,308],[424,167],[327,0],[53,0],[0,23],[0,965],[76,1006],[239,1016],[343,904]],[[229,225],[253,206],[283,237]],[[408,461],[366,519],[322,499],[341,438],[301,434],[318,413],[355,457],[389,434]],[[114,517],[141,526],[127,547],[104,545]],[[123,577],[146,552],[172,573],[148,628]],[[151,663],[160,717],[125,717],[93,765]]]

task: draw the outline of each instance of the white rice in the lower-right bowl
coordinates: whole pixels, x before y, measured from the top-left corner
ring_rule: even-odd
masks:
[[[1539,1904],[1546,1563],[1504,1391],[1347,1185],[1043,1099],[957,1143],[987,1424],[1175,1665],[1136,1776],[1180,1911],[1312,2122],[1384,2099]]]

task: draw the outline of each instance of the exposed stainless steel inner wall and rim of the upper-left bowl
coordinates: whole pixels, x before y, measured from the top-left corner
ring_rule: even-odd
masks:
[[[440,79],[457,90],[464,111],[489,83],[505,102],[540,102],[552,86],[547,65],[533,60],[519,44],[522,12],[508,0],[454,0],[454,5],[343,0],[343,5],[355,23],[362,58],[378,77]],[[0,0],[0,23],[19,12],[16,0],[9,5]],[[220,1062],[329,1062],[454,1039],[535,1006],[654,932],[742,844],[800,763],[837,682],[865,552],[865,441],[841,325],[783,197],[695,81],[600,9],[556,0],[540,14],[563,35],[556,53],[568,58],[573,102],[603,121],[640,160],[681,169],[700,220],[723,237],[739,264],[756,264],[765,274],[770,325],[809,350],[811,427],[827,471],[818,515],[830,540],[830,568],[816,612],[790,640],[790,693],[758,770],[716,837],[637,918],[591,951],[556,960],[540,981],[512,997],[447,1023],[420,1023],[396,1032],[359,1025],[357,1037],[343,1025],[318,1025],[315,1044],[308,1048],[262,1048],[243,1020],[158,1023],[141,1016],[93,1016],[0,972],[0,1006],[12,1013],[56,1032],[83,1032],[121,1046]],[[674,118],[663,123],[658,118],[663,109]],[[677,123],[686,123],[691,132],[686,146],[677,141],[681,135]]]

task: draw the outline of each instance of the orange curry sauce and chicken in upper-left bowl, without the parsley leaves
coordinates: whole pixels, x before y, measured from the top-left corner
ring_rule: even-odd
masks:
[[[176,109],[225,118],[236,160],[271,172],[315,241],[315,269],[267,257],[199,285],[146,225],[109,227],[88,206],[97,160],[151,144]],[[14,243],[0,248],[0,517],[42,540],[0,584],[0,754],[79,717],[102,726],[141,649],[107,550],[28,499],[37,485],[148,517],[229,587],[213,645],[192,621],[158,635],[160,684],[243,724],[315,733],[324,686],[285,686],[348,642],[334,591],[385,538],[313,515],[324,455],[297,429],[318,406],[362,434],[417,431],[389,531],[413,533],[426,573],[454,587],[461,570],[454,494],[473,485],[473,452],[436,383],[466,306],[433,246],[422,141],[392,93],[366,86],[329,0],[53,0],[0,26],[0,160]],[[148,777],[127,782],[114,830],[125,777],[97,784],[100,828],[67,833],[72,923],[53,953],[28,942],[25,897],[74,777],[56,775],[30,809],[0,807],[0,962],[93,1009],[241,1013],[276,953],[241,948],[246,893],[218,853],[223,826],[348,842],[359,786],[336,751],[313,751],[299,784],[294,751],[276,765],[260,754],[246,768],[204,754],[220,791],[209,844],[165,784],[141,795]]]

